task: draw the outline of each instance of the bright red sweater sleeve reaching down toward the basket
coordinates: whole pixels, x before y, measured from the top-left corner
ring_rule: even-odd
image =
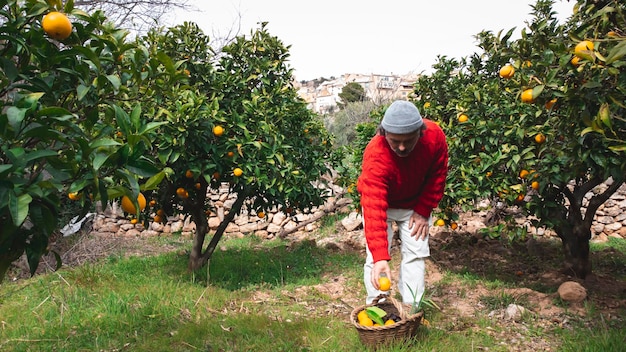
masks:
[[[388,176],[374,145],[363,154],[363,168],[357,189],[361,195],[363,230],[374,262],[391,260],[387,241]]]

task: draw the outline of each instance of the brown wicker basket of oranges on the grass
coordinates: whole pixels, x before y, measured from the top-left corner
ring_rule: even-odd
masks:
[[[379,303],[379,301],[383,298],[384,301]],[[400,317],[400,321],[393,325],[385,326],[363,326],[359,324],[357,318],[359,312],[371,306],[377,306],[387,312],[387,314],[396,314]],[[405,340],[416,335],[417,328],[422,322],[424,312],[419,311],[415,314],[409,315],[410,310],[410,305],[402,304],[393,297],[380,295],[374,299],[372,303],[356,307],[352,311],[352,314],[350,314],[350,322],[359,332],[359,338],[364,345],[377,348],[381,345],[389,344],[394,340]]]

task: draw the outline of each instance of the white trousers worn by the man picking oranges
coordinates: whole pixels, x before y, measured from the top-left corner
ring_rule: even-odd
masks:
[[[424,274],[426,271],[426,263],[424,258],[430,256],[430,247],[428,246],[428,236],[425,240],[416,240],[411,236],[411,230],[409,229],[409,219],[413,214],[411,209],[388,209],[387,210],[387,242],[389,243],[388,250],[391,252],[391,244],[393,241],[394,231],[392,224],[395,221],[400,231],[400,253],[402,259],[400,262],[400,276],[398,278],[397,289],[402,296],[402,302],[407,304],[413,304],[413,301],[417,304],[424,295],[425,280]],[[428,219],[429,225],[432,219]],[[363,265],[363,279],[365,282],[365,288],[367,289],[366,304],[372,303],[374,298],[378,297],[382,292],[376,290],[371,282],[371,272],[374,267],[374,260],[372,253],[366,246],[366,258],[365,265]],[[392,280],[393,282],[393,280]],[[409,287],[411,289],[409,289]],[[411,293],[411,290],[413,293]],[[415,297],[413,297],[415,294]]]

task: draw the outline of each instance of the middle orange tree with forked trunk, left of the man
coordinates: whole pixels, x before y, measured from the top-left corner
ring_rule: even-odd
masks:
[[[219,57],[194,24],[148,36],[152,52],[168,55],[189,89],[165,102],[155,119],[155,151],[172,170],[158,193],[157,220],[189,215],[196,225],[189,267],[210,259],[228,224],[242,212],[310,211],[328,195],[320,180],[329,172],[331,143],[321,120],[298,98],[287,66],[288,48],[263,24],[234,38]],[[236,200],[211,240],[209,189],[227,186]]]

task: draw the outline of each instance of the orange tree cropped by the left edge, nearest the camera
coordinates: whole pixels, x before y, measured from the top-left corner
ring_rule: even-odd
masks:
[[[35,272],[63,202],[85,213],[165,175],[146,153],[160,123],[141,98],[171,76],[102,13],[72,4],[0,1],[0,280],[24,253]],[[63,14],[44,21],[50,12]]]

